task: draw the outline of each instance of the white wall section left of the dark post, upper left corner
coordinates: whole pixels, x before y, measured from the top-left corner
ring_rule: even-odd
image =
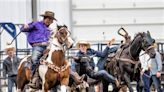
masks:
[[[31,21],[31,0],[0,0],[0,22]]]

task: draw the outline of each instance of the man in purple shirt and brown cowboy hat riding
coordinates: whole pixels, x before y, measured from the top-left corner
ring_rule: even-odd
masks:
[[[54,13],[51,11],[45,11],[44,14],[40,16],[43,17],[42,21],[35,21],[29,24],[25,24],[22,28],[22,32],[27,32],[27,40],[32,46],[32,66],[31,66],[31,83],[29,86],[37,88],[35,85],[36,80],[38,80],[38,73],[35,73],[38,65],[39,59],[43,55],[43,51],[49,45],[49,37],[51,30],[48,28],[53,20],[56,20]]]

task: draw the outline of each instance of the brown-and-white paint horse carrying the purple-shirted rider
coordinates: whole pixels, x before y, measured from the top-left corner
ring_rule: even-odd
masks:
[[[72,48],[73,43],[74,41],[70,37],[70,32],[65,26],[60,26],[59,30],[52,36],[50,45],[43,54],[46,59],[41,60],[38,68],[39,77],[42,80],[40,89],[43,92],[48,92],[49,89],[56,85],[61,85],[61,92],[66,92],[66,86],[69,82],[70,66],[65,59],[65,49]],[[30,81],[30,66],[31,56],[28,55],[22,59],[18,68],[18,92],[22,92],[25,85]]]

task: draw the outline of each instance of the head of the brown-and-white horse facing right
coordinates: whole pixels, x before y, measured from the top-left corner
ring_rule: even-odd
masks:
[[[65,44],[67,48],[72,48],[74,41],[70,37],[70,31],[68,31],[67,26],[57,26],[58,30],[55,34],[55,37],[58,39],[60,44]]]

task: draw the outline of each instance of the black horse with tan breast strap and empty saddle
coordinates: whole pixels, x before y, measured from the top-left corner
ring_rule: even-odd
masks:
[[[115,56],[107,59],[106,70],[133,92],[131,81],[140,81],[139,54],[144,50],[151,58],[155,57],[154,42],[149,31],[138,33],[128,46],[120,48]],[[114,91],[120,88],[114,87]]]

